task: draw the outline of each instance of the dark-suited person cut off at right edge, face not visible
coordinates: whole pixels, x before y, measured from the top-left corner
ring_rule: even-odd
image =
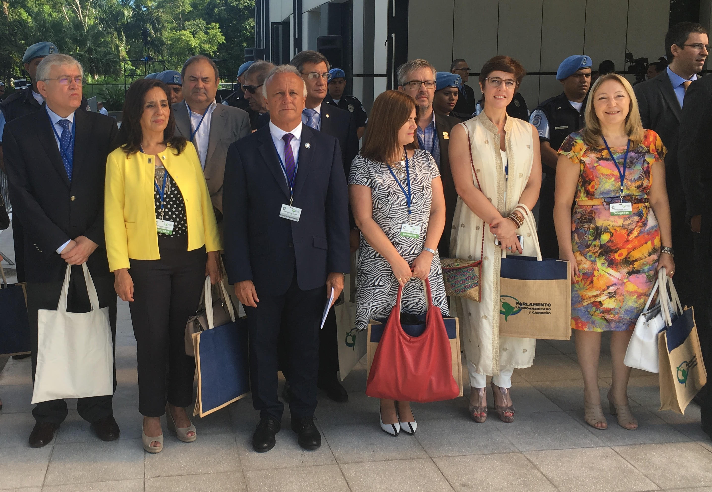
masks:
[[[708,301],[708,292],[712,289],[709,280],[712,268],[712,162],[708,157],[712,141],[712,77],[696,80],[685,92],[679,136],[678,166],[687,217],[691,219],[698,279],[695,321],[707,373],[712,374],[712,304]],[[702,429],[712,439],[712,391],[706,388],[698,396],[700,400],[697,397],[695,400],[702,404]]]

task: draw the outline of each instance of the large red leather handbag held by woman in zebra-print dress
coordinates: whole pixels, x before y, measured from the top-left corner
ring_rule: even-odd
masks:
[[[366,395],[404,402],[437,402],[459,396],[452,376],[450,341],[440,308],[433,305],[425,281],[428,312],[425,330],[409,336],[400,322],[403,288],[383,329],[366,383]]]

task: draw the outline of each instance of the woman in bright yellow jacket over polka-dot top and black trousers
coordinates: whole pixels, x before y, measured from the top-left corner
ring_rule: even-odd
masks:
[[[106,164],[106,249],[116,293],[130,303],[143,446],[150,453],[163,449],[164,413],[180,440],[197,438],[184,408],[193,399],[195,361],[185,355],[183,337],[205,276],[213,284],[221,277],[203,170],[193,144],[174,137],[174,126],[166,85],[133,82],[120,146]]]

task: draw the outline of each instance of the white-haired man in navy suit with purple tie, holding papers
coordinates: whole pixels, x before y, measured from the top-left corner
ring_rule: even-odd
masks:
[[[247,314],[260,411],[252,446],[269,451],[281,427],[277,341],[285,328],[292,429],[300,446],[317,449],[320,321],[350,264],[346,177],[337,139],[302,123],[299,71],[278,66],[263,90],[270,123],[230,146],[224,180],[226,269]]]

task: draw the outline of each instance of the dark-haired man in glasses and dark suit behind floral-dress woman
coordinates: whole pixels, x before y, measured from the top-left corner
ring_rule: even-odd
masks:
[[[680,118],[687,87],[697,79],[708,55],[707,31],[692,22],[672,26],[665,36],[670,65],[654,79],[634,87],[643,127],[654,130],[667,148],[665,180],[672,218],[675,286],[683,305],[695,304],[698,292],[693,233],[687,220],[687,205],[678,167]],[[685,105],[687,102],[685,101]],[[693,210],[698,229],[698,210]]]

